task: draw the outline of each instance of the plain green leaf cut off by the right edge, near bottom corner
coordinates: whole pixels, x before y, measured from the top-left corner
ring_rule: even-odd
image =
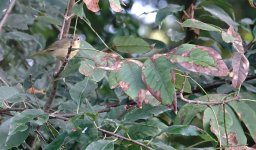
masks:
[[[249,130],[251,137],[256,142],[256,126],[255,126],[256,112],[255,112],[255,110],[253,110],[245,102],[231,102],[229,104],[234,109],[234,111],[237,114],[237,116],[239,117],[239,119],[243,121],[246,128]],[[239,134],[239,136],[241,136],[241,135]]]

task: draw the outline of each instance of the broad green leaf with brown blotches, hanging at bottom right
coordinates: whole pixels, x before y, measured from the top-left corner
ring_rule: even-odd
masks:
[[[225,111],[223,105],[211,108],[204,111],[204,129],[214,133],[222,146],[246,144],[246,136],[232,109],[228,105],[225,105]]]

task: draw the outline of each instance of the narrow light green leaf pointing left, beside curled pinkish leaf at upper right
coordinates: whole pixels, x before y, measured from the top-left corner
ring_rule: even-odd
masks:
[[[187,19],[181,25],[183,27],[197,28],[197,29],[206,30],[206,31],[217,31],[217,32],[222,31],[220,27],[210,25],[196,19]]]

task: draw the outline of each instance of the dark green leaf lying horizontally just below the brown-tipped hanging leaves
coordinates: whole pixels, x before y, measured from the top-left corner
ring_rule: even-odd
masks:
[[[153,116],[158,116],[168,110],[168,107],[163,105],[144,105],[142,108],[134,108],[131,111],[129,111],[127,114],[125,114],[123,120],[126,122],[134,122],[139,119],[145,120]]]

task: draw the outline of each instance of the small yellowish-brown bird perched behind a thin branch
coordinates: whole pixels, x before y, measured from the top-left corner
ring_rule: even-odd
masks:
[[[54,42],[48,48],[33,54],[32,56],[51,55],[63,61],[67,56],[69,47],[72,45],[72,51],[69,55],[69,59],[71,59],[78,53],[80,48],[80,41],[80,36],[75,36],[73,39],[70,37],[65,37]]]

